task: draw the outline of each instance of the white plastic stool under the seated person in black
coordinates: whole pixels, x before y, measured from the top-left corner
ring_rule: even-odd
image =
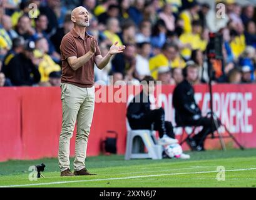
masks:
[[[163,146],[156,144],[151,130],[130,130],[126,138],[125,159],[133,158],[163,158]],[[146,152],[145,152],[146,148]]]

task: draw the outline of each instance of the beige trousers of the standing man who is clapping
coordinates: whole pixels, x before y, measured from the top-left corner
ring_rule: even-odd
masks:
[[[59,168],[61,171],[70,169],[70,139],[77,121],[74,171],[79,171],[85,168],[87,141],[95,108],[95,86],[79,88],[73,84],[61,83],[61,101],[63,119],[59,136]]]

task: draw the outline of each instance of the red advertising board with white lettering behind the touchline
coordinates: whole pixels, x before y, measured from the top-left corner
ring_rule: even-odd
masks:
[[[153,99],[165,108],[166,120],[174,121],[172,108],[173,86],[162,86]],[[136,91],[136,90],[135,90]],[[118,133],[118,154],[125,153],[126,101],[135,91],[108,86],[96,87],[95,114],[88,141],[88,156],[101,152],[101,142],[106,132]],[[195,87],[195,98],[207,113],[210,96],[207,85]],[[103,93],[106,92],[106,96]],[[101,94],[102,93],[102,94]],[[138,93],[138,91],[136,91]],[[113,96],[111,96],[113,94]],[[98,97],[98,98],[97,98]],[[256,148],[256,85],[216,84],[213,86],[213,109],[230,132],[245,148]],[[39,159],[58,156],[61,131],[61,100],[59,88],[0,88],[0,161],[8,159]],[[74,131],[75,132],[75,131]],[[223,130],[220,132],[224,134]],[[177,138],[181,131],[175,130]],[[74,139],[71,139],[71,156],[74,156]],[[236,147],[231,139],[227,146]],[[183,146],[187,149],[186,144]],[[217,139],[208,139],[207,148],[220,148]]]

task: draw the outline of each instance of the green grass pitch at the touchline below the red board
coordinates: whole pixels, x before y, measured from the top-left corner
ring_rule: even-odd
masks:
[[[133,159],[124,156],[96,156],[86,167],[96,176],[60,177],[58,160],[0,163],[0,187],[255,187],[256,149],[188,152],[189,160]],[[71,158],[71,163],[73,158]],[[46,164],[37,181],[29,181],[29,166]],[[225,168],[218,173],[218,166]],[[221,167],[222,168],[222,167]],[[72,164],[71,164],[72,169]],[[225,181],[218,181],[218,178]]]

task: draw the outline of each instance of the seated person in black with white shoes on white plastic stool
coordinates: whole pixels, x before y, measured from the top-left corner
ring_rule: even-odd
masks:
[[[163,108],[150,109],[149,94],[154,91],[154,79],[146,76],[143,81],[143,90],[136,95],[128,106],[127,118],[131,129],[153,129],[159,132],[158,144],[167,145],[178,143],[173,133],[173,126],[170,121],[165,121],[165,111]]]

